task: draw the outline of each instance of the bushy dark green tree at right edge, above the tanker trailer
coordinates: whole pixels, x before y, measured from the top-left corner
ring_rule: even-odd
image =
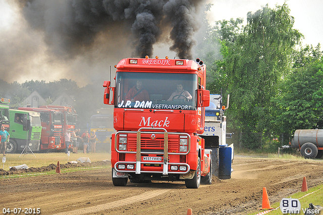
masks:
[[[323,126],[323,53],[320,46],[305,47],[296,55],[295,69],[281,84],[274,99],[274,123],[280,131],[293,134],[297,129]]]

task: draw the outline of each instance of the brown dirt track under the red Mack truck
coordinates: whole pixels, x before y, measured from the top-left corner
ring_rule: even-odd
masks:
[[[323,160],[289,161],[235,156],[230,180],[186,189],[184,182],[152,182],[114,187],[111,168],[59,175],[0,178],[0,205],[40,208],[42,214],[243,214],[259,208],[262,188],[270,202],[323,183]],[[11,213],[14,214],[14,213]],[[23,214],[21,212],[21,214]]]

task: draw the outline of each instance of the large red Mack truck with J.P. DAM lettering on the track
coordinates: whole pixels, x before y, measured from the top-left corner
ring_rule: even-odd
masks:
[[[198,136],[210,100],[203,62],[126,58],[115,68],[115,87],[103,82],[103,103],[114,105],[113,184],[126,186],[128,178],[210,184],[211,150]]]

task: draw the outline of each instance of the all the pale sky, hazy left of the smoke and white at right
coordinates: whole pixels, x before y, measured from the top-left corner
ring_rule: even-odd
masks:
[[[0,0],[0,77],[7,82],[16,80],[22,83],[31,79],[49,82],[60,78],[71,78],[82,87],[87,83],[100,80],[103,82],[104,76],[105,79],[110,79],[110,66],[117,64],[122,58],[131,57],[131,54],[125,56],[125,53],[132,52],[129,46],[124,46],[125,44],[112,42],[107,46],[102,46],[103,35],[96,38],[98,42],[91,52],[62,61],[50,54],[53,50],[46,46],[43,33],[28,27],[27,21],[12,2]],[[248,12],[256,12],[266,4],[270,8],[275,8],[276,4],[282,5],[285,1],[206,0],[206,2],[212,4],[207,18],[210,24],[214,24],[217,20],[238,17],[246,20]],[[323,1],[289,0],[287,4],[291,10],[290,15],[295,18],[294,28],[305,37],[303,45],[316,46],[322,43]],[[166,53],[174,57],[175,54],[168,50],[169,47],[156,44],[153,47],[153,54],[164,56]],[[101,53],[109,53],[109,56]]]

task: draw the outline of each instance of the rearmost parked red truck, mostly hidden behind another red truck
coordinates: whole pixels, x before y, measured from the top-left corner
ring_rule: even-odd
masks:
[[[68,106],[58,106],[58,105],[42,105],[39,108],[47,108],[51,110],[60,111],[63,113],[63,133],[62,133],[62,141],[61,141],[61,148],[65,149],[65,137],[64,134],[67,130],[74,130],[76,121],[77,121],[77,113],[76,110],[72,107]]]

